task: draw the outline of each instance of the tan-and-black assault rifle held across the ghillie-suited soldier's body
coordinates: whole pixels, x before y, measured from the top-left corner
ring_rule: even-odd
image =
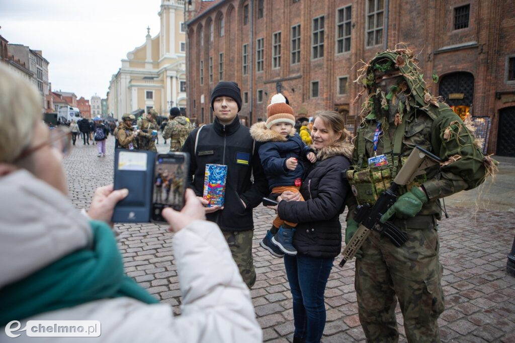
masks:
[[[357,250],[361,248],[371,230],[384,234],[397,247],[406,242],[408,239],[406,234],[395,224],[389,221],[383,224],[379,220],[397,201],[399,186],[409,184],[416,176],[422,174],[424,169],[440,163],[440,161],[441,159],[438,156],[416,146],[409,154],[408,159],[403,164],[401,170],[399,170],[397,176],[393,179],[390,187],[381,193],[374,206],[363,204],[356,208],[354,220],[359,224],[359,227],[342,253],[344,258],[339,264],[340,267],[344,266],[345,262],[356,255]]]

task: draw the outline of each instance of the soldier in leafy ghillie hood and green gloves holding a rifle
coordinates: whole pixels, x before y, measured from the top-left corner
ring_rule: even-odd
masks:
[[[357,130],[353,166],[347,172],[357,203],[374,204],[417,145],[443,161],[401,187],[396,203],[381,218],[405,232],[407,242],[396,247],[371,231],[358,251],[359,321],[367,341],[398,341],[397,296],[408,341],[436,342],[437,319],[444,310],[439,199],[483,183],[495,172],[495,161],[483,155],[473,127],[428,93],[410,50],[377,53],[359,74],[356,81],[365,87],[361,94],[369,95]],[[358,227],[352,219],[354,208],[350,206],[346,244]]]

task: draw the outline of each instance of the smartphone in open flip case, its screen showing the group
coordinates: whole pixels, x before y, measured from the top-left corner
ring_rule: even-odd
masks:
[[[183,152],[158,154],[154,168],[152,222],[165,223],[161,212],[166,207],[181,210],[184,206],[186,175],[190,167],[189,155]]]

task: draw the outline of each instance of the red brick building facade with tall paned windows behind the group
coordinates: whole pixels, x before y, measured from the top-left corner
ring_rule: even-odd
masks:
[[[404,42],[435,95],[485,117],[488,152],[515,156],[515,7],[492,0],[218,0],[185,2],[188,114],[212,122],[219,80],[242,89],[246,124],[282,92],[298,118],[336,110],[355,126],[359,61]],[[432,83],[432,76],[439,77]]]

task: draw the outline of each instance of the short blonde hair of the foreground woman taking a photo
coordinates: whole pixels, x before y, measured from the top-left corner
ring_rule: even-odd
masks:
[[[41,105],[36,87],[0,64],[0,163],[12,163],[29,146]]]

